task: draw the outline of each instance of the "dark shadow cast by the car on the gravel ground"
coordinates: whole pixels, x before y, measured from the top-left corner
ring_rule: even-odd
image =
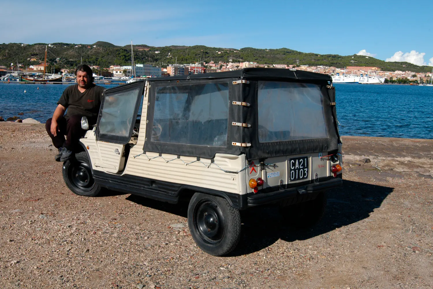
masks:
[[[292,242],[323,234],[324,237],[327,237],[327,232],[368,218],[370,213],[375,208],[379,208],[382,201],[393,190],[394,188],[390,187],[343,180],[340,188],[326,193],[328,204],[320,223],[304,230],[294,227],[296,219],[282,219],[276,206],[242,211],[242,237],[236,250],[230,256],[257,252],[274,244],[278,239]],[[136,195],[130,195],[126,199],[139,205],[187,218],[187,202],[173,205]]]

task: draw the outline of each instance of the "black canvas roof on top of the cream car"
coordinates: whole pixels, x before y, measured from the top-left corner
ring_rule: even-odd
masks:
[[[169,77],[147,78],[148,81],[181,80],[181,79],[216,79],[216,78],[260,78],[260,79],[299,79],[302,81],[332,81],[329,75],[284,68],[242,68],[233,71],[177,75]]]

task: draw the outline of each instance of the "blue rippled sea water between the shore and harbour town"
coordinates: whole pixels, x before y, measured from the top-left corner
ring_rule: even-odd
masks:
[[[0,83],[0,116],[6,119],[23,112],[21,118],[45,123],[68,85]],[[335,88],[341,135],[433,138],[433,87],[335,84]]]

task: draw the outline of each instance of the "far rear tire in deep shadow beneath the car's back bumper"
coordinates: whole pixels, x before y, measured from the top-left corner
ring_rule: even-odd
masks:
[[[283,221],[299,229],[309,228],[319,223],[325,214],[325,210],[325,192],[320,192],[314,200],[280,207]]]

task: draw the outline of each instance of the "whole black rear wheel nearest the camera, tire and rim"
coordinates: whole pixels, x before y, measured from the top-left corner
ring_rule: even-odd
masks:
[[[188,225],[197,246],[210,255],[226,255],[239,243],[241,216],[224,198],[195,193],[188,206]]]

